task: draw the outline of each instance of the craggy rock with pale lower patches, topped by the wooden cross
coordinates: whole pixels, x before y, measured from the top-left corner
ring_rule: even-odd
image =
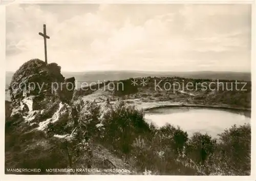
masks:
[[[46,64],[38,59],[24,63],[9,86],[12,101],[9,125],[23,122],[26,127],[46,131],[49,123],[69,124],[62,130],[68,133],[72,129],[70,94],[74,89],[67,90],[65,85],[56,63]]]

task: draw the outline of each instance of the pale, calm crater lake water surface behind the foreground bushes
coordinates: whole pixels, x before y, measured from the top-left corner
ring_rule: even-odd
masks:
[[[165,107],[148,110],[145,119],[158,127],[166,123],[187,131],[208,133],[214,138],[232,125],[250,123],[250,111],[233,111],[195,107]]]

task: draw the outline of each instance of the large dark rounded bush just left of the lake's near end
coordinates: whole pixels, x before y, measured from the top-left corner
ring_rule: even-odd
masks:
[[[144,111],[126,106],[123,101],[114,105],[106,103],[101,124],[104,128],[102,141],[123,154],[131,151],[133,141],[139,134],[150,131],[149,125],[144,121]]]

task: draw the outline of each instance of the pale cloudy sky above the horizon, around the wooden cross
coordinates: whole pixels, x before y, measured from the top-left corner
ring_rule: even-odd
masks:
[[[6,70],[44,60],[61,71],[251,70],[250,5],[10,4]]]

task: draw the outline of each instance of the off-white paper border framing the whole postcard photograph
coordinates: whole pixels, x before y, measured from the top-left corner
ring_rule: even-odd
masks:
[[[251,175],[250,176],[158,176],[158,175],[6,175],[5,174],[5,54],[6,54],[6,6],[19,4],[250,4],[251,5]],[[0,0],[0,80],[2,87],[0,88],[0,113],[1,113],[1,150],[0,150],[0,180],[256,180],[256,11],[255,0],[244,1],[219,1],[219,0],[204,0],[204,1],[162,1],[162,0],[75,0],[75,1],[12,1]],[[254,110],[254,111],[253,111]]]

